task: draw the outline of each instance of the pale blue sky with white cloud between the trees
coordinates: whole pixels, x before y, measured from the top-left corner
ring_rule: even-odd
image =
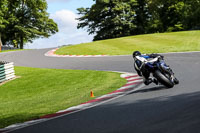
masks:
[[[91,42],[94,35],[88,35],[86,29],[77,29],[80,17],[77,8],[91,7],[93,0],[46,0],[50,18],[58,24],[59,32],[49,38],[34,40],[26,49],[54,48],[68,44]]]

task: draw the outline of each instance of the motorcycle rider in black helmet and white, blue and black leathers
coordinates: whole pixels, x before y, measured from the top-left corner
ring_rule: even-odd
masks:
[[[164,56],[160,55],[160,54],[141,54],[139,51],[135,51],[133,52],[133,59],[135,61],[134,63],[134,67],[135,70],[137,71],[139,76],[143,76],[144,77],[144,84],[145,85],[149,85],[150,83],[154,82],[155,84],[158,84],[157,79],[155,78],[150,78],[150,72],[145,69],[145,63],[147,62],[147,60],[149,59],[154,59],[156,57],[160,57],[160,58],[164,58]]]

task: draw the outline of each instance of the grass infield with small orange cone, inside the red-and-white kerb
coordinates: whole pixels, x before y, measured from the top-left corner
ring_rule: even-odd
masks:
[[[0,128],[39,118],[100,96],[126,83],[119,73],[15,67],[20,76],[0,86]]]

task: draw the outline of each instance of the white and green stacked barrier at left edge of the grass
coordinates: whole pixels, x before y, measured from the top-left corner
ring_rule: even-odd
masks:
[[[0,83],[15,78],[13,62],[0,61]]]

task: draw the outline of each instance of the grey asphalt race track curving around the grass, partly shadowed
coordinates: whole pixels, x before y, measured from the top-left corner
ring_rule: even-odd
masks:
[[[131,56],[56,58],[49,49],[0,54],[16,66],[134,72]],[[180,84],[150,85],[100,106],[13,131],[13,133],[199,133],[200,52],[165,55]]]

